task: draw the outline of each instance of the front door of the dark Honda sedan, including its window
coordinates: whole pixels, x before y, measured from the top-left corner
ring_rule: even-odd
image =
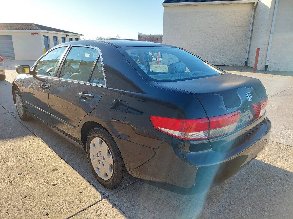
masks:
[[[32,68],[23,82],[23,98],[28,112],[52,125],[48,93],[60,62],[69,46],[49,51]]]

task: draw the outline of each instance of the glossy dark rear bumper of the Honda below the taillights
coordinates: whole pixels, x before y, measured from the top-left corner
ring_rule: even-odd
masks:
[[[162,188],[176,186],[174,192],[180,188],[207,188],[233,175],[253,160],[268,144],[270,129],[270,120],[265,118],[245,142],[240,141],[237,147],[226,151],[209,149],[184,154],[182,142],[180,144],[173,137],[166,138],[158,149],[152,149],[154,155],[148,161],[129,168],[129,172]]]

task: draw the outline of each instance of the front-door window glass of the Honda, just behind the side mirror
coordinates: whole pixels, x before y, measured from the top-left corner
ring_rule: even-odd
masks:
[[[35,67],[36,75],[53,76],[55,71],[57,70],[56,67],[58,65],[58,62],[60,58],[62,57],[66,48],[67,48],[66,46],[59,47],[52,50],[47,55],[45,55],[36,64],[36,67]]]

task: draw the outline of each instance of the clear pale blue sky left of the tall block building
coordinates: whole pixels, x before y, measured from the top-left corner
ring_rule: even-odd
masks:
[[[4,0],[1,23],[36,23],[84,34],[137,39],[162,34],[163,0]],[[81,37],[82,38],[82,37]]]

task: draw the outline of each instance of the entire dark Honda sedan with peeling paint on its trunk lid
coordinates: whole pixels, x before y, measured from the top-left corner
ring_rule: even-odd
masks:
[[[71,41],[16,71],[19,117],[38,119],[82,147],[109,189],[130,175],[166,187],[211,186],[270,139],[258,79],[224,72],[176,46]]]

